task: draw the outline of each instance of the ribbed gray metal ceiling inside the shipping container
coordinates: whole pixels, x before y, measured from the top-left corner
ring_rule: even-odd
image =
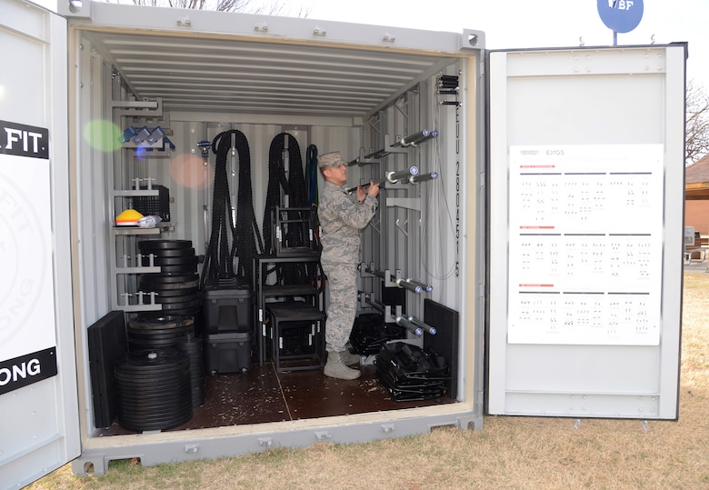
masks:
[[[366,116],[453,61],[243,38],[87,32],[139,98],[169,111]]]

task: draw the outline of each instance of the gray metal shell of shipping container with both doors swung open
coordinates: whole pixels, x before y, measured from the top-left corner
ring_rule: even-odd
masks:
[[[481,429],[488,414],[676,419],[685,44],[489,51],[474,29],[0,5],[1,487],[69,461],[99,475],[128,457],[156,465]],[[152,135],[132,139],[144,127]],[[429,300],[454,314],[448,403],[96,428],[88,328],[115,310],[155,310],[136,299],[135,276],[155,272],[129,262],[137,240],[190,240],[205,254],[214,154],[205,164],[200,144],[228,130],[248,140],[259,224],[276,135],[293,135],[303,161],[308,145],[341,151],[348,185],[413,165],[438,175],[380,193],[359,307],[424,318]],[[115,226],[135,200],[157,198],[141,185],[169,188],[169,226]],[[384,305],[383,284],[398,278],[433,291],[404,290],[404,311]]]

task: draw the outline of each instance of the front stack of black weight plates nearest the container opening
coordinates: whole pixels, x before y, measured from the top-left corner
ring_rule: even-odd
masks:
[[[118,424],[135,432],[165,430],[193,415],[189,359],[174,349],[130,352],[115,365]]]

